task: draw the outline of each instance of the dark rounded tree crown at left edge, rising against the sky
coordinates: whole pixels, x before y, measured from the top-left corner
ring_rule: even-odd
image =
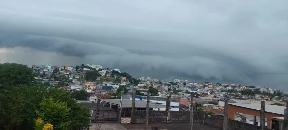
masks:
[[[15,63],[1,64],[0,69],[0,84],[2,87],[9,87],[14,85],[32,85],[34,74],[32,70],[26,65]]]

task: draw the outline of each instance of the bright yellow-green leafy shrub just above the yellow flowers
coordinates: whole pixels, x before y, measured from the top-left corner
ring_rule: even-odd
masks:
[[[53,98],[44,98],[36,113],[38,117],[43,119],[43,122],[53,124],[54,129],[68,130],[71,122],[69,120],[70,110],[66,102],[54,101]]]

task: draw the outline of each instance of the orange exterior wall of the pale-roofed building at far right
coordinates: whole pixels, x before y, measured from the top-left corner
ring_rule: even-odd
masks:
[[[234,106],[234,105],[229,104],[229,106],[228,106],[228,118],[234,120],[235,113],[243,113],[243,114],[249,114],[249,115],[260,117],[260,111],[259,110],[253,110],[253,109],[238,107],[238,106]],[[282,116],[283,115],[265,112],[265,118],[267,118],[267,128],[271,128],[271,119],[273,119],[274,117],[282,117]]]

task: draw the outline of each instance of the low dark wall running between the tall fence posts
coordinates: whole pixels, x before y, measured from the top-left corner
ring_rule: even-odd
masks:
[[[149,111],[149,123],[166,123],[166,111]],[[133,123],[145,123],[146,111],[135,111]],[[170,123],[189,123],[189,111],[170,111]],[[206,126],[223,130],[223,117],[217,115],[209,115],[203,112],[194,113],[194,122]],[[257,125],[243,123],[235,120],[228,120],[228,130],[260,130]],[[272,129],[266,129],[272,130]]]

